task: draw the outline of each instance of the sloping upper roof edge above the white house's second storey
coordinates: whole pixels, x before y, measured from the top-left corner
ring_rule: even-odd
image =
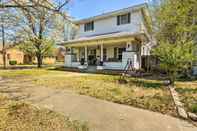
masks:
[[[90,21],[95,21],[95,20],[100,20],[100,19],[104,19],[104,18],[116,16],[116,15],[121,15],[125,12],[140,10],[140,9],[143,9],[143,8],[147,8],[147,6],[148,5],[146,3],[143,3],[143,4],[131,6],[131,7],[128,7],[128,8],[123,8],[123,9],[120,9],[120,10],[116,10],[116,11],[112,11],[112,12],[108,12],[108,13],[103,13],[101,15],[97,15],[97,16],[93,16],[93,17],[89,17],[89,18],[85,18],[85,19],[81,19],[81,20],[76,20],[76,21],[73,21],[73,23],[74,24],[83,24],[83,23],[87,23],[87,22],[90,22]]]

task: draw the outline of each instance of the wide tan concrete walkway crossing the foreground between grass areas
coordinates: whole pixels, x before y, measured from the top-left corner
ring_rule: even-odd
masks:
[[[71,118],[87,121],[90,131],[197,131],[191,124],[162,115],[119,105],[69,91],[12,85],[11,96],[38,106],[64,113]],[[11,89],[9,87],[8,89]]]

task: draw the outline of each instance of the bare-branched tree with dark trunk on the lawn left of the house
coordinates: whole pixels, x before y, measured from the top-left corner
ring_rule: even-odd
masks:
[[[50,4],[46,4],[45,6],[48,5],[50,6]],[[64,29],[64,24],[60,24],[60,21],[59,24],[56,24],[57,20],[62,18],[63,13],[60,15],[58,12],[48,10],[43,6],[33,8],[21,7],[17,9],[17,11],[18,15],[21,17],[20,26],[22,27],[19,31],[22,33],[19,36],[22,36],[23,34],[25,41],[28,41],[28,43],[33,43],[31,45],[35,49],[37,64],[40,68],[42,66],[44,55],[48,54],[51,50],[51,47],[49,46],[51,44],[46,43],[50,43],[48,41],[54,40],[53,36],[57,36],[54,34],[57,33],[57,30],[60,31],[61,29]],[[65,14],[64,19],[66,16],[67,15]]]

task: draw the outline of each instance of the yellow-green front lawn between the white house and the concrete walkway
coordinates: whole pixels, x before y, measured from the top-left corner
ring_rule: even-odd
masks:
[[[162,85],[162,81],[128,78],[127,84],[120,84],[119,76],[45,69],[8,70],[2,71],[0,76],[11,78],[19,84],[28,79],[34,86],[69,89],[98,99],[176,115],[170,92]]]

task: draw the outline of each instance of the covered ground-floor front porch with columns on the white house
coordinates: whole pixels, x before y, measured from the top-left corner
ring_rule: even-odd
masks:
[[[133,68],[140,69],[143,46],[142,39],[135,37],[81,41],[66,46],[65,67],[124,70],[130,60]]]

